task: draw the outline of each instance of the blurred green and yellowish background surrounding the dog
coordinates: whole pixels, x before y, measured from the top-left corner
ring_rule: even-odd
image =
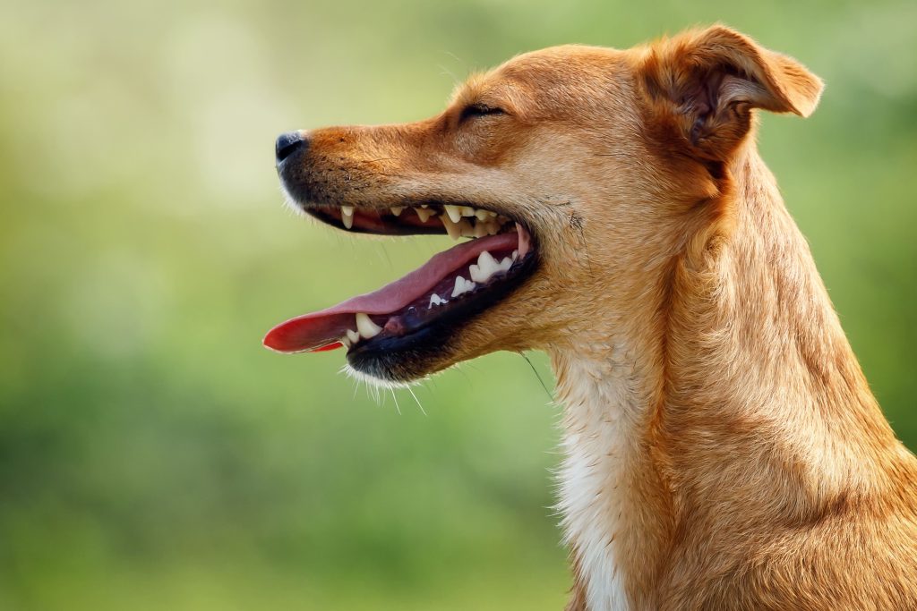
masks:
[[[377,403],[273,323],[444,243],[282,206],[273,139],[409,121],[562,42],[716,20],[827,82],[760,147],[917,447],[917,4],[22,2],[0,10],[0,609],[558,609],[559,409],[518,355]],[[536,368],[552,383],[541,355]]]

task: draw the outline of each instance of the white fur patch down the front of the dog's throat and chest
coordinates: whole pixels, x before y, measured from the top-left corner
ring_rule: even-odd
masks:
[[[627,516],[624,468],[635,416],[621,366],[568,361],[558,372],[566,408],[560,502],[566,541],[574,552],[589,611],[626,611],[624,567],[616,536]]]

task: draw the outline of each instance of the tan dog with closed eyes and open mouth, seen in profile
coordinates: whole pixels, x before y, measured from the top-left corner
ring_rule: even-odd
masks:
[[[755,145],[758,112],[822,90],[713,26],[520,55],[417,123],[284,134],[297,209],[459,244],[264,344],[344,347],[389,386],[546,351],[569,611],[917,609],[917,460]]]

